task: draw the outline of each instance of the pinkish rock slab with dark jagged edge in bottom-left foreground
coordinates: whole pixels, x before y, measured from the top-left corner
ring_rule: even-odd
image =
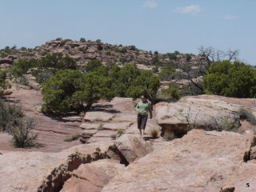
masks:
[[[0,157],[1,192],[58,191],[69,171],[82,163],[107,158],[113,142],[73,146],[59,153],[10,152]]]

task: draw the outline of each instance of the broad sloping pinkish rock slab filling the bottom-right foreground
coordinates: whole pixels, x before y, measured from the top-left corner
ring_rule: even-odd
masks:
[[[102,191],[216,192],[233,185],[240,192],[246,182],[256,189],[255,161],[247,159],[255,141],[252,134],[191,130],[130,164]]]

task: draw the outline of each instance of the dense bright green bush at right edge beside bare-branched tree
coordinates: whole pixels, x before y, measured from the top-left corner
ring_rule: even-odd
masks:
[[[256,71],[243,62],[214,62],[209,74],[203,78],[206,94],[218,94],[235,98],[254,98],[256,95]]]

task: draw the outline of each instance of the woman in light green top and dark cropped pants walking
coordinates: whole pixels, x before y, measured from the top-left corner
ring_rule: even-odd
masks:
[[[152,118],[151,103],[146,99],[146,95],[142,95],[142,101],[138,102],[138,104],[135,106],[135,110],[138,112],[138,130],[141,134],[141,138],[143,138],[149,112],[150,118]]]

